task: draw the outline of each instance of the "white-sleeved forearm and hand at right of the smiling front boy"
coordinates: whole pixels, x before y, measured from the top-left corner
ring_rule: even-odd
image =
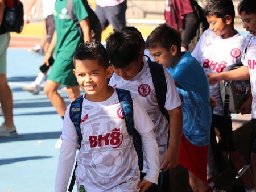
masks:
[[[159,175],[159,152],[158,143],[155,139],[153,130],[146,133],[140,133],[143,145],[143,152],[147,161],[147,174],[143,180],[138,184],[137,189],[140,192],[146,191],[152,183],[158,183]]]

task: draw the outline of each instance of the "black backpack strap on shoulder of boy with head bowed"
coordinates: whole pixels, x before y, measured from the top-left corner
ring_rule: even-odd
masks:
[[[167,84],[163,66],[152,61],[148,61],[148,66],[150,67],[150,73],[155,87],[156,99],[158,101],[160,111],[169,122],[169,114],[166,108],[164,108],[164,104],[166,103]]]

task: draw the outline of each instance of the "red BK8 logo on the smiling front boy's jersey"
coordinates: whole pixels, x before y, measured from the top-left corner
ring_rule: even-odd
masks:
[[[123,141],[123,134],[120,129],[114,128],[111,133],[106,133],[106,135],[92,135],[89,136],[90,147],[102,147],[110,146],[112,148],[118,148]]]

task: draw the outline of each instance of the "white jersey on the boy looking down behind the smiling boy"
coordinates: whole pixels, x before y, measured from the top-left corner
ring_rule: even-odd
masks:
[[[167,119],[161,114],[158,101],[156,100],[155,87],[152,81],[150,68],[147,61],[144,59],[143,61],[143,69],[132,80],[123,80],[122,77],[117,76],[117,74],[114,73],[110,78],[109,85],[127,89],[131,93],[137,95],[139,101],[142,103],[142,106],[144,106],[147,114],[150,116],[152,122],[154,123],[154,132],[159,149],[159,163],[162,165],[163,155],[167,149],[169,123]],[[164,69],[164,74],[166,75],[167,83],[167,99],[164,107],[166,110],[173,110],[174,108],[177,108],[181,105],[181,101],[171,74],[168,73],[166,69]],[[147,165],[144,163],[142,172],[146,172],[146,168]]]

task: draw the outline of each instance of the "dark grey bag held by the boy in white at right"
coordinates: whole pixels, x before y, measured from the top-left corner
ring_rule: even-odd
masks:
[[[237,69],[240,66],[243,66],[243,64],[234,64],[225,70]],[[226,110],[224,113],[238,114],[240,107],[251,96],[250,80],[221,81],[220,91],[224,103],[224,111]]]

